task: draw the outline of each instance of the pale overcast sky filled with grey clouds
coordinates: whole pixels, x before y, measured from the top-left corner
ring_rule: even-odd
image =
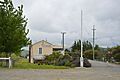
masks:
[[[71,47],[81,39],[81,10],[83,11],[83,40],[92,42],[95,25],[95,44],[101,47],[120,45],[120,0],[13,0],[15,7],[23,4],[28,18],[28,37],[33,43],[47,40]]]

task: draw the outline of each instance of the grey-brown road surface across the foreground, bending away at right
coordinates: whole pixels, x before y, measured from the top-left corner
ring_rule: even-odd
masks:
[[[120,80],[120,65],[90,62],[91,68],[0,69],[0,80]]]

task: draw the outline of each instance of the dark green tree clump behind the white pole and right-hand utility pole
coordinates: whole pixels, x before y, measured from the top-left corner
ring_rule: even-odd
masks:
[[[81,49],[81,41],[75,41],[72,48],[72,54],[76,57],[76,53],[80,57],[80,49]],[[92,59],[93,58],[93,51],[92,51],[92,44],[89,41],[84,41],[83,42],[83,57]],[[101,59],[102,54],[100,54],[100,47],[98,45],[95,45],[95,58],[96,59]]]

